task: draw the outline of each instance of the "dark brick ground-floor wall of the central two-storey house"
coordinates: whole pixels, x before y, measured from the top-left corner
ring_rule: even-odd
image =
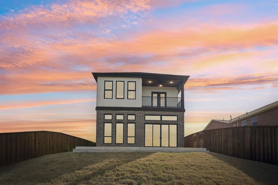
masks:
[[[104,120],[104,114],[112,114],[112,120]],[[124,114],[124,120],[116,120],[116,114]],[[127,114],[136,114],[136,120],[127,120]],[[145,120],[146,115],[176,115],[178,121]],[[112,143],[104,143],[104,123],[112,123]],[[124,143],[116,144],[116,123],[124,123]],[[135,123],[135,144],[127,144],[127,124]],[[97,110],[96,113],[96,146],[145,146],[145,123],[176,124],[177,147],[184,146],[184,112],[144,111],[144,110]]]

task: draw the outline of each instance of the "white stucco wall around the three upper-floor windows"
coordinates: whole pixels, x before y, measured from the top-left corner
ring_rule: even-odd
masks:
[[[104,80],[113,81],[113,99],[104,99]],[[116,81],[125,81],[124,99],[116,99]],[[136,99],[127,99],[127,82],[136,81]],[[141,107],[142,79],[125,77],[98,77],[96,106],[101,107]]]

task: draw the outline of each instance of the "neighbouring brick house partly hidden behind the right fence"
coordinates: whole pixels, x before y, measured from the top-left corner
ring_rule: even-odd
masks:
[[[278,125],[278,101],[259,109],[246,112],[231,120],[211,120],[204,130],[220,129],[236,126]]]

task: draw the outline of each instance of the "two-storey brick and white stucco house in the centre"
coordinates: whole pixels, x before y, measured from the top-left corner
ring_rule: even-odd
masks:
[[[97,82],[96,146],[184,146],[184,84],[189,76],[92,74]]]

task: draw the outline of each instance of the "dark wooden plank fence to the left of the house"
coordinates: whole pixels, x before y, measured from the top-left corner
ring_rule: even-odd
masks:
[[[42,155],[69,152],[76,146],[96,146],[96,143],[59,132],[0,133],[0,166]]]

